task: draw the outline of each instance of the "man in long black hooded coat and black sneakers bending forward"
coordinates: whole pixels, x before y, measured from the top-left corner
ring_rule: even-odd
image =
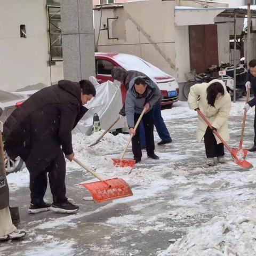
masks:
[[[4,124],[5,150],[11,158],[20,156],[30,174],[29,213],[47,210],[73,213],[78,206],[66,197],[66,162],[74,157],[71,131],[86,113],[83,107],[96,94],[87,80],[67,80],[33,94],[15,109]],[[53,203],[44,202],[47,173]]]

